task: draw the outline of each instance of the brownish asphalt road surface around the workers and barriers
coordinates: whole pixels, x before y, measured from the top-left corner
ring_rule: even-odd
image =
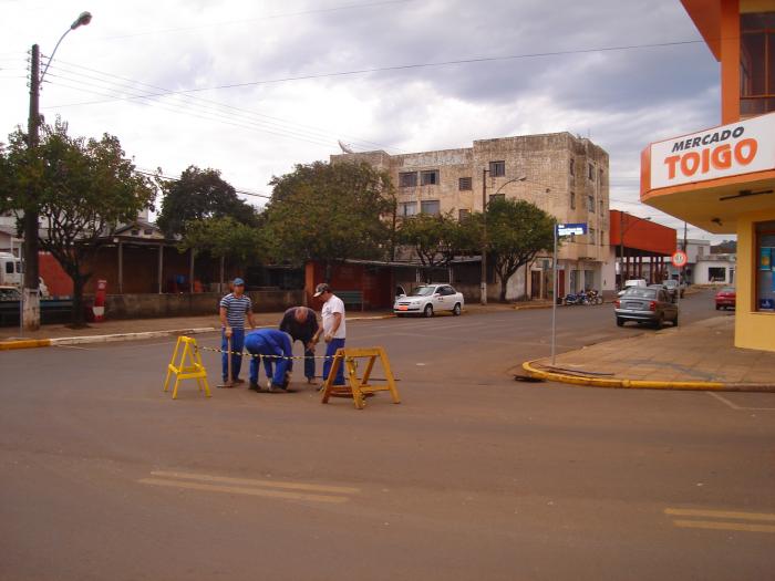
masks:
[[[2,353],[0,579],[773,579],[775,395],[514,382],[549,323],[353,322],[401,378],[362,412],[301,383],[173,402],[170,341]],[[610,305],[558,331],[650,332]]]

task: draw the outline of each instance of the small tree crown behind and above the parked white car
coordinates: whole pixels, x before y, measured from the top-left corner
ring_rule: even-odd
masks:
[[[447,267],[456,256],[472,251],[480,239],[475,220],[457,221],[452,214],[420,214],[404,218],[399,241],[414,248],[428,270]]]

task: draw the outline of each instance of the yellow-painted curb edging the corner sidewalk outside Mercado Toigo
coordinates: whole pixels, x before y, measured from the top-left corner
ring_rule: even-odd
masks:
[[[699,391],[699,392],[765,392],[775,393],[775,384],[767,383],[724,383],[724,382],[666,382],[650,380],[614,380],[602,377],[585,377],[580,375],[569,375],[554,371],[537,369],[536,362],[540,360],[526,361],[523,369],[530,377],[550,382],[560,382],[571,385],[583,385],[590,387],[609,387],[623,390],[676,390],[676,391]]]

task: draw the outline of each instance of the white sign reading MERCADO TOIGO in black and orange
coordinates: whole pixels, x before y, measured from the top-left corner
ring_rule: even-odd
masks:
[[[651,189],[775,169],[775,113],[651,144]]]

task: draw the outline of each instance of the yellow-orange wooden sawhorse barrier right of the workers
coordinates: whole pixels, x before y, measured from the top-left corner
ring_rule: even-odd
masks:
[[[374,363],[376,359],[382,362],[382,370],[385,373],[384,381],[386,385],[369,385],[369,378],[371,377],[371,372],[374,370]],[[358,377],[358,360],[368,359],[365,370],[363,371],[363,377]],[[337,377],[337,372],[339,366],[344,365],[344,373],[347,375],[348,385],[334,385],[334,378]],[[322,403],[327,404],[329,397],[333,396],[348,396],[352,395],[353,403],[356,409],[363,409],[365,407],[365,397],[373,395],[376,392],[390,392],[394,404],[401,403],[401,397],[399,396],[399,391],[395,388],[395,378],[393,377],[393,372],[390,369],[390,361],[388,360],[388,354],[382,347],[369,347],[369,349],[340,349],[337,351],[337,355],[331,365],[331,371],[329,372],[328,380],[323,385],[323,400]]]

